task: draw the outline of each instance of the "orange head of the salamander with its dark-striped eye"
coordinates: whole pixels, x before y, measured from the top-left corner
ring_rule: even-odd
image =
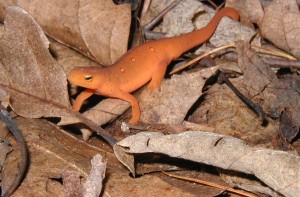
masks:
[[[71,84],[88,89],[97,89],[103,83],[99,67],[78,67],[68,74],[68,80]]]

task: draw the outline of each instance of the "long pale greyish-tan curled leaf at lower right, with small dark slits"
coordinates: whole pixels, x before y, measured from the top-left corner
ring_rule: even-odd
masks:
[[[119,154],[160,153],[255,175],[279,194],[300,192],[299,157],[283,151],[252,147],[242,140],[201,131],[163,135],[141,132],[118,142]]]

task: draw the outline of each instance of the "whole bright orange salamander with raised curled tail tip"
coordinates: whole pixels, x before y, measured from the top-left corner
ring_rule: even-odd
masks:
[[[71,84],[87,88],[76,98],[73,109],[79,111],[83,102],[93,94],[119,98],[132,106],[131,124],[137,124],[141,111],[137,99],[130,94],[147,82],[149,90],[160,90],[169,63],[182,53],[207,41],[223,16],[233,20],[239,14],[232,8],[221,9],[210,23],[198,30],[172,38],[150,41],[129,50],[116,63],[107,68],[75,68],[68,74]]]

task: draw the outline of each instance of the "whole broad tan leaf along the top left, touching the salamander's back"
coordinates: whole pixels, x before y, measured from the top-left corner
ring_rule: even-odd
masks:
[[[112,64],[127,51],[130,4],[114,5],[111,0],[0,2],[0,7],[6,5],[26,9],[47,35],[104,65]]]

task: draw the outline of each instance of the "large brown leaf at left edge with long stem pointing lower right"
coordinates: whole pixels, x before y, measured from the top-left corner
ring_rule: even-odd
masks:
[[[19,7],[8,7],[6,13],[0,40],[0,89],[9,93],[12,109],[28,118],[85,122],[113,144],[108,133],[71,109],[65,73],[47,50],[49,41],[38,24]]]

